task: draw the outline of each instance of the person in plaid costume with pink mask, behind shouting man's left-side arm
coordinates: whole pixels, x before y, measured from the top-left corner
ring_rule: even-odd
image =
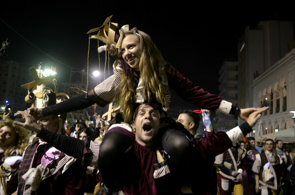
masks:
[[[57,96],[50,89],[42,88],[40,93],[42,100],[36,100],[34,106],[44,108],[56,104]],[[60,134],[63,128],[60,123],[62,117],[48,115],[39,118],[35,125]],[[17,195],[84,195],[87,166],[82,165],[82,159],[66,155],[37,137],[26,147],[23,156],[18,169]]]

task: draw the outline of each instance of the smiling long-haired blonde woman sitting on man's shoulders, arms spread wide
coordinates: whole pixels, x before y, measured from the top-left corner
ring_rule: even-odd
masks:
[[[248,118],[251,111],[256,110],[255,108],[239,109],[221,100],[219,96],[194,85],[163,59],[160,51],[145,32],[137,28],[129,30],[128,25],[123,26],[119,32],[120,38],[117,45],[107,46],[113,56],[118,57],[114,63],[114,75],[95,86],[87,95],[76,96],[44,109],[30,108],[30,113],[40,117],[81,110],[94,103],[104,107],[115,99],[116,106],[122,109],[122,120],[130,123],[137,105],[152,104],[154,107],[161,108],[161,123],[167,125],[161,129],[159,139],[162,138],[162,141],[160,140],[162,147],[170,154],[169,166],[171,169],[177,169],[184,167],[184,162],[189,158],[190,141],[185,133],[171,129],[171,126],[177,127],[177,123],[166,114],[171,103],[170,89],[175,90],[185,101],[200,108],[219,109],[244,120]],[[173,125],[169,126],[169,124]],[[167,127],[170,127],[168,131]],[[134,140],[126,138],[122,132],[108,133],[102,140],[98,168],[105,186],[109,189],[117,188],[113,177],[117,171],[115,167],[119,163],[120,154],[126,151],[132,141]]]

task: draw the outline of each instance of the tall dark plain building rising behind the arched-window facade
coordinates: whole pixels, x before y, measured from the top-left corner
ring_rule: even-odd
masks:
[[[238,43],[238,106],[255,106],[251,85],[254,79],[282,59],[294,41],[293,22],[261,21],[247,27]],[[256,98],[257,96],[255,96]],[[239,119],[238,124],[242,121]]]

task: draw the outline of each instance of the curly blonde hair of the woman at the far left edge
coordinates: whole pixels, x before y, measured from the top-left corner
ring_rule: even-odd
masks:
[[[15,140],[14,140],[14,143],[8,146],[8,148],[5,150],[4,158],[2,160],[9,157],[10,153],[14,149],[20,149],[24,151],[29,141],[28,130],[25,129],[24,127],[13,124],[13,120],[11,119],[0,120],[0,128],[2,128],[3,126],[8,126],[14,129]]]

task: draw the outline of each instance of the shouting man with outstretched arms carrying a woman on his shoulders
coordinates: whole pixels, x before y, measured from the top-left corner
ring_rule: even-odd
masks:
[[[211,162],[216,154],[225,151],[232,146],[233,142],[242,139],[249,131],[252,131],[251,127],[253,127],[256,121],[261,117],[260,113],[267,109],[268,108],[264,108],[259,111],[254,111],[249,115],[247,122],[227,133],[218,132],[211,136],[195,140],[193,142],[195,149],[190,150],[190,156],[196,156],[199,160]],[[172,195],[179,192],[177,185],[171,185],[171,181],[176,180],[176,178],[171,180],[171,176],[173,176],[175,171],[173,169],[170,170],[169,158],[171,157],[167,155],[166,151],[163,150],[157,142],[158,133],[160,131],[159,113],[158,110],[148,104],[140,105],[135,112],[134,120],[131,125],[132,127],[127,123],[112,124],[106,132],[105,136],[112,133],[123,134],[132,142],[127,150],[124,150],[120,156],[117,156],[117,160],[120,162],[118,167],[111,167],[112,165],[110,165],[111,168],[116,170],[115,174],[112,176],[116,178],[116,182],[118,182],[116,183],[116,185],[119,186],[119,188],[116,189],[118,192],[122,191],[125,195]],[[40,139],[52,143],[56,148],[74,158],[83,158],[83,156],[85,156],[86,145],[82,140],[69,136],[62,136],[36,125],[34,122],[35,118],[29,114],[29,111],[18,111],[16,115],[23,115],[26,119],[25,123],[16,124],[33,130]],[[179,128],[182,127],[184,129],[180,123],[176,124],[179,125]],[[210,144],[212,142],[214,142],[214,144]],[[116,151],[117,149],[118,148],[113,147],[113,150]],[[100,145],[94,141],[90,141],[89,151],[91,151],[89,166],[97,167],[102,160],[99,154],[101,152]],[[199,166],[196,164],[196,167]],[[204,169],[204,167],[199,168]],[[99,169],[98,174],[99,181],[103,183],[101,193],[112,194],[113,189],[109,189],[104,184],[101,171],[102,169]],[[165,184],[168,186],[165,186]],[[196,183],[195,187],[199,192],[202,192],[203,186],[199,183]],[[206,190],[201,194],[207,194]],[[200,194],[199,192],[196,193]]]

